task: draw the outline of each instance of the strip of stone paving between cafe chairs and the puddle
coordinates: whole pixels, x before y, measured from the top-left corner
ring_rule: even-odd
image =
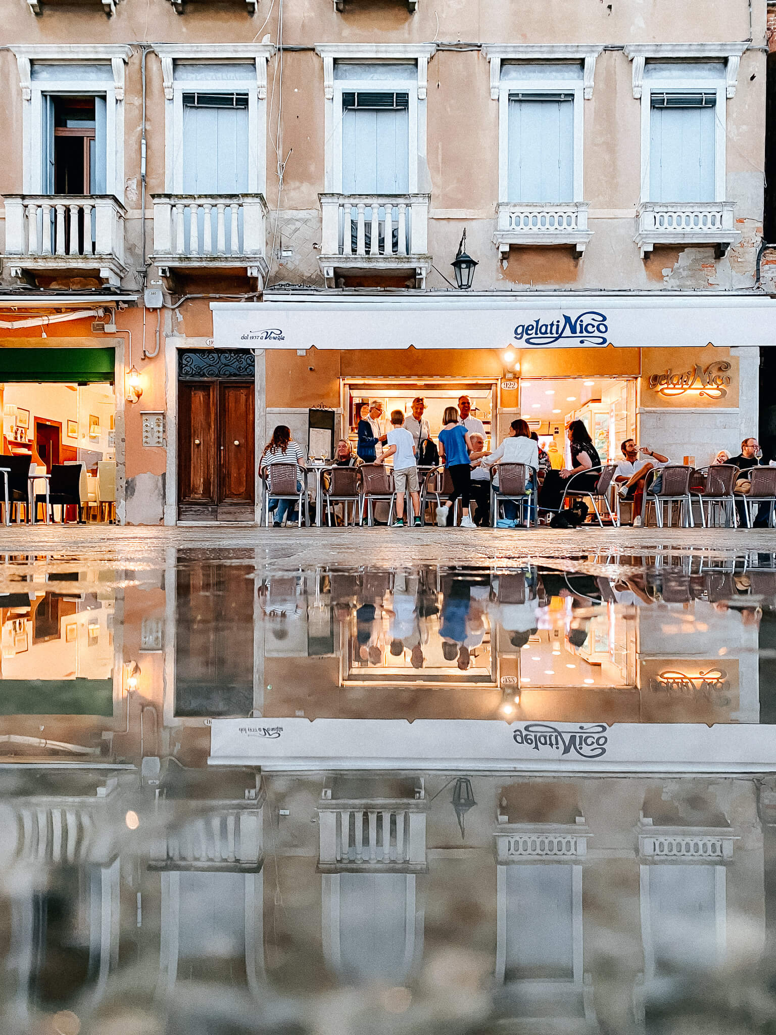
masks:
[[[48,565],[74,558],[94,564],[157,567],[170,550],[216,556],[249,551],[271,566],[322,564],[516,563],[533,559],[585,559],[638,563],[665,553],[773,553],[776,529],[264,529],[255,526],[115,527],[36,525],[0,527],[0,555],[8,564],[35,556]],[[244,556],[244,554],[243,554]],[[71,564],[70,564],[71,567]]]

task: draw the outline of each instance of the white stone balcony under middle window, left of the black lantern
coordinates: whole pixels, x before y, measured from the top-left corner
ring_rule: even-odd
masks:
[[[430,195],[319,195],[319,263],[327,288],[342,274],[409,274],[422,288],[428,255]]]

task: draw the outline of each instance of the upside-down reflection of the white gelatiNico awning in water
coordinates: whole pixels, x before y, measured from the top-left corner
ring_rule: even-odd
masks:
[[[209,762],[292,769],[773,772],[776,730],[757,724],[466,719],[213,719]]]

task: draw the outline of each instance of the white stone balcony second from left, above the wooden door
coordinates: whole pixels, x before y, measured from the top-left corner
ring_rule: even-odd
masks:
[[[267,204],[263,195],[153,195],[153,255],[171,270],[234,272],[264,286]]]

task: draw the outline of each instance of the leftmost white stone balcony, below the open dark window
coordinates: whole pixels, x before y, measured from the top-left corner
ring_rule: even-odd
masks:
[[[126,273],[125,213],[112,195],[6,195],[10,275],[94,275],[118,287]]]

